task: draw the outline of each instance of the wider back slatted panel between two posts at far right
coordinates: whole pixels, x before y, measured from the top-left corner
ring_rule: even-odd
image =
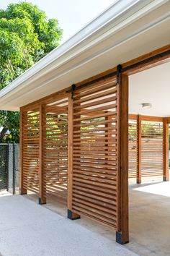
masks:
[[[142,176],[163,175],[163,123],[142,121]]]

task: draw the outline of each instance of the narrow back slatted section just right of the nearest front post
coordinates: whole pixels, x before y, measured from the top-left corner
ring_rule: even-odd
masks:
[[[129,178],[136,178],[138,164],[137,120],[129,120]]]

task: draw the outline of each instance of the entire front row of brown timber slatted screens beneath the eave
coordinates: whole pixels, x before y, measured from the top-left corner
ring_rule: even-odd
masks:
[[[22,110],[23,189],[120,230],[119,102],[109,77]]]

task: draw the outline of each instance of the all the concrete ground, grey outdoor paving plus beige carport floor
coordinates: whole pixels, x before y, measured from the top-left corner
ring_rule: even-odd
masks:
[[[3,222],[6,227],[6,234],[0,231],[0,252],[4,256],[72,255],[71,253],[73,255],[109,256],[133,255],[133,252],[142,256],[170,255],[170,182],[161,182],[161,179],[156,178],[156,182],[151,184],[130,184],[129,190],[129,244],[124,246],[116,244],[115,231],[84,217],[77,221],[67,220],[66,204],[63,204],[61,200],[48,200],[46,205],[37,205],[37,196],[30,194],[10,197],[10,201],[8,197],[4,203],[0,198],[0,207],[3,205],[3,214],[7,216],[4,221],[3,217],[0,220],[0,226]],[[29,200],[25,200],[24,197]],[[14,215],[9,214],[11,211],[9,208],[15,209]],[[18,216],[22,216],[21,219],[18,220]],[[8,219],[10,221],[7,221]],[[15,223],[16,219],[17,223]],[[20,228],[16,227],[18,221],[21,223]],[[4,242],[1,245],[1,241],[4,241],[6,236],[9,237],[6,242],[9,247],[8,251],[6,251],[7,245]],[[54,238],[55,244],[53,244]],[[19,246],[19,251],[17,246]],[[9,254],[10,249],[13,254]]]

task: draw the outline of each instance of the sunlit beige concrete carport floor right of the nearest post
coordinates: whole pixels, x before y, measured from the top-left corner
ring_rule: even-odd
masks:
[[[130,185],[130,243],[142,256],[170,255],[170,182]]]

